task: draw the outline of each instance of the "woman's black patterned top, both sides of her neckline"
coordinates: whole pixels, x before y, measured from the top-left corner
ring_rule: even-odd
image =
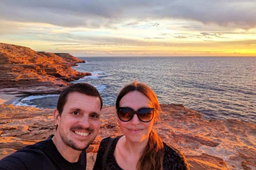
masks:
[[[116,148],[116,144],[120,137],[122,137],[122,136],[118,136],[114,139],[114,141],[109,149],[104,169],[107,169],[107,170],[122,169],[120,166],[118,166],[116,159],[114,157],[114,151]],[[102,168],[102,159],[103,159],[105,149],[107,148],[109,139],[110,139],[110,137],[107,137],[101,141],[93,170],[103,169]],[[163,160],[164,170],[171,170],[171,169],[189,170],[189,166],[188,166],[187,160],[184,157],[184,155],[182,153],[180,153],[178,150],[168,146],[167,144],[165,144],[165,143],[163,143],[163,144],[164,144],[164,160]]]

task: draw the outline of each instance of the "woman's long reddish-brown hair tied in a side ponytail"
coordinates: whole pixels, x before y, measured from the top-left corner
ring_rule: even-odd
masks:
[[[118,94],[116,99],[116,110],[119,107],[120,100],[124,97],[125,94],[131,91],[139,91],[145,94],[148,99],[152,102],[154,111],[154,121],[159,121],[159,111],[160,105],[158,103],[156,94],[154,91],[140,82],[132,82],[129,85],[126,85],[121,92]],[[162,170],[163,169],[163,159],[164,159],[164,145],[162,139],[156,134],[155,130],[152,129],[149,133],[148,145],[143,150],[142,155],[137,163],[137,170]]]

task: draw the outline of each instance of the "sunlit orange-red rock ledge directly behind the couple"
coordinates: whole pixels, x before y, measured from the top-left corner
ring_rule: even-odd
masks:
[[[185,154],[190,169],[255,169],[256,124],[239,120],[204,120],[183,105],[161,105],[161,122],[154,125],[163,141]],[[0,105],[0,159],[55,133],[53,109]],[[100,141],[118,136],[115,107],[104,106],[99,135],[86,149],[92,169]]]

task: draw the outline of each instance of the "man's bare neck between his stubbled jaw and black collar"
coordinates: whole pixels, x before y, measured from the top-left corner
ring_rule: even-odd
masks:
[[[57,150],[60,152],[60,155],[68,162],[75,163],[78,161],[82,151],[77,151],[70,146],[64,144],[58,132],[56,132],[54,137],[52,137],[52,142],[56,146]]]

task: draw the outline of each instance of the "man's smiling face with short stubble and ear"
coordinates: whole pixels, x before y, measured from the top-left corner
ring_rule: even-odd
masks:
[[[56,133],[65,145],[78,151],[86,149],[100,129],[100,98],[79,92],[69,93],[56,122]]]

